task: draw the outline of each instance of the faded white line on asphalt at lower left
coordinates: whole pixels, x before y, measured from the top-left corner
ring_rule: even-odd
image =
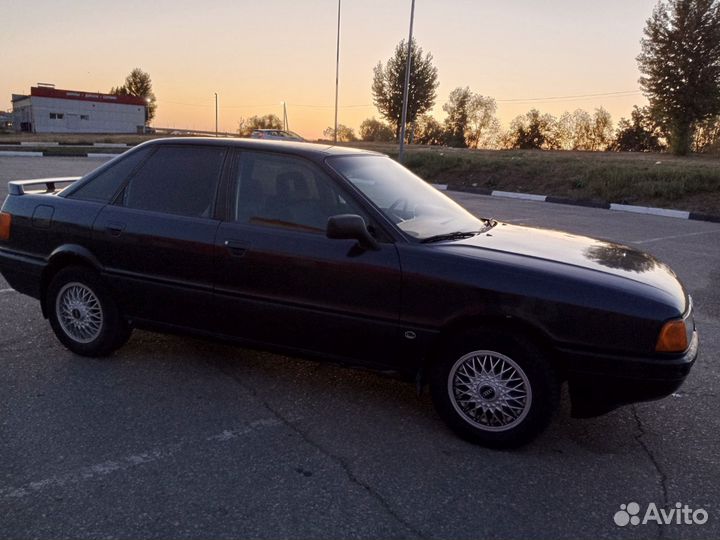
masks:
[[[292,421],[297,420],[299,420],[299,418],[292,419]],[[205,437],[203,440],[209,442],[225,442],[238,439],[244,435],[252,433],[253,431],[257,431],[258,429],[281,425],[283,425],[283,422],[278,418],[263,418],[250,422],[237,429],[224,430],[222,433]],[[153,448],[152,450],[148,450],[146,452],[103,461],[102,463],[96,463],[87,467],[80,467],[65,474],[58,474],[48,478],[43,478],[42,480],[29,482],[20,487],[0,487],[0,499],[27,497],[28,495],[33,495],[46,489],[63,487],[68,484],[79,484],[86,480],[94,480],[118,471],[124,471],[139,465],[144,465],[146,463],[162,461],[173,456],[183,448],[192,446],[194,442],[195,441],[186,441]]]

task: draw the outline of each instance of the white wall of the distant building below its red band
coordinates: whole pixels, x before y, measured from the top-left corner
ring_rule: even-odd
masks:
[[[145,125],[145,107],[141,105],[39,96],[28,99],[36,133],[137,133],[138,127]],[[23,117],[28,116],[25,110],[23,107]]]

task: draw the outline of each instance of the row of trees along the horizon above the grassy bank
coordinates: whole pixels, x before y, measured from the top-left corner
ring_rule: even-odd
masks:
[[[720,151],[720,0],[660,0],[647,20],[639,80],[647,107],[635,107],[613,129],[603,108],[577,109],[559,118],[532,109],[501,129],[492,97],[455,88],[441,123],[427,112],[438,86],[432,54],[412,42],[407,142],[469,148],[659,151],[678,155]],[[397,140],[400,131],[407,42],[401,41],[374,69],[373,103],[381,120],[366,119],[360,138]],[[345,126],[338,135],[352,140]],[[328,128],[326,135],[333,134]],[[340,137],[340,135],[344,137]]]

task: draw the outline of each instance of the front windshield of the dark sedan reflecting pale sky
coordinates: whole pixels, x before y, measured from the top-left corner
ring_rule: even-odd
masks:
[[[427,240],[487,228],[487,222],[389,157],[342,156],[329,158],[328,163],[413,238]]]

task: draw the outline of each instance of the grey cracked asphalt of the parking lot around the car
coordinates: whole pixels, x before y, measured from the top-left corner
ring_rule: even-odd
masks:
[[[100,162],[0,158],[0,197]],[[683,388],[590,420],[564,399],[536,442],[491,451],[373,373],[144,332],[112,358],[74,356],[0,278],[0,537],[720,537],[720,224],[452,195],[670,263],[701,333]],[[620,527],[630,502],[708,520]]]

